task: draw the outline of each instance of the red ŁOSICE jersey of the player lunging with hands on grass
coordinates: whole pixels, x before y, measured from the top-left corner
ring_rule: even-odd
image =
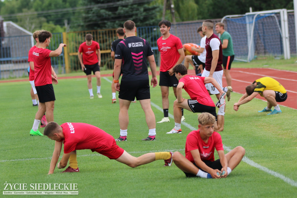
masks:
[[[93,125],[66,122],[61,127],[64,135],[64,153],[83,149],[104,151],[113,145],[113,136]]]

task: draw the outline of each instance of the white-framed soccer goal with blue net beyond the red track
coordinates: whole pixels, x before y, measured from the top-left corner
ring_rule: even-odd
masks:
[[[290,59],[286,9],[226,15],[221,22],[232,37],[236,60],[250,62],[258,56]]]

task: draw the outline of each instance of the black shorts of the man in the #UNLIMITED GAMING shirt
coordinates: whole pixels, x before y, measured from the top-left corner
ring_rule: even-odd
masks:
[[[121,81],[119,98],[123,100],[151,99],[149,79],[141,81]]]

